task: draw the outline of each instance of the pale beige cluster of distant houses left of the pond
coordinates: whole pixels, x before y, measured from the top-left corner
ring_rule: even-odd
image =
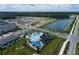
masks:
[[[31,27],[40,23],[39,17],[17,16],[17,25],[21,28]]]

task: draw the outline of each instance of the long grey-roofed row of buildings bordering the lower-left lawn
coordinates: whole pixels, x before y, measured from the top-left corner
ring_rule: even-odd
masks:
[[[0,48],[4,49],[9,47],[11,44],[15,43],[18,38],[19,36],[13,33],[6,34],[3,37],[0,37]]]

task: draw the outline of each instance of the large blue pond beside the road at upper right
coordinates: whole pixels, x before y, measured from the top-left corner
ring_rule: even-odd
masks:
[[[47,27],[49,29],[53,29],[56,31],[64,30],[66,26],[72,21],[71,19],[63,19],[63,20],[58,20],[54,23],[48,24]]]

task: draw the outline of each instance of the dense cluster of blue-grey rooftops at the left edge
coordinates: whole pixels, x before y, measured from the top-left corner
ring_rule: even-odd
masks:
[[[3,33],[7,33],[9,31],[12,31],[15,29],[17,26],[14,23],[8,23],[3,20],[0,20],[0,35]]]

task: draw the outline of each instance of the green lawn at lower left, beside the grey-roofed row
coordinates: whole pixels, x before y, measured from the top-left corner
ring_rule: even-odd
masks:
[[[35,51],[30,48],[29,46],[26,47],[24,38],[20,38],[17,43],[11,45],[10,47],[4,49],[2,51],[3,55],[30,55],[33,54]]]

